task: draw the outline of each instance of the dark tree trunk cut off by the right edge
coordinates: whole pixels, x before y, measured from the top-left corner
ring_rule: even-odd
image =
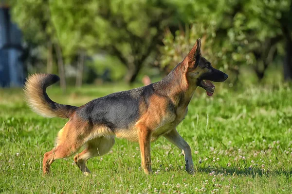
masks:
[[[284,58],[284,80],[292,80],[292,40],[287,38],[286,40],[286,56]]]

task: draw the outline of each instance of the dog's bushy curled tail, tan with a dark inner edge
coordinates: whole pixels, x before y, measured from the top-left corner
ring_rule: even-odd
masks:
[[[27,104],[31,109],[45,117],[69,118],[77,109],[75,106],[58,104],[51,100],[46,88],[60,78],[54,74],[33,74],[30,75],[24,86],[24,94]]]

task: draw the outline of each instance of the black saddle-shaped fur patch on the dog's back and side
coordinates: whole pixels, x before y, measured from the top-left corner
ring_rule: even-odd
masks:
[[[94,99],[79,107],[76,116],[89,121],[92,125],[105,125],[112,129],[128,129],[139,118],[139,96],[137,89],[117,92]]]

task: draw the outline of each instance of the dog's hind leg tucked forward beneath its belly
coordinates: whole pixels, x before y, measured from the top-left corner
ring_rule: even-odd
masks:
[[[89,175],[91,172],[87,168],[85,162],[90,158],[102,156],[108,153],[114,143],[115,141],[113,137],[99,137],[92,139],[86,143],[86,148],[81,153],[74,156],[74,162],[78,165],[84,175]]]

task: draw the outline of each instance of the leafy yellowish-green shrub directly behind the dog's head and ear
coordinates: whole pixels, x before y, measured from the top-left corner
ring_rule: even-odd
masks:
[[[202,24],[194,24],[191,28],[186,27],[185,32],[177,31],[175,36],[169,31],[165,33],[164,46],[160,48],[161,67],[166,69],[167,72],[171,71],[173,67],[183,61],[199,37],[201,37],[202,55],[211,61],[214,66],[222,66],[226,70],[229,62],[226,57],[227,50],[215,44],[215,26],[205,27]],[[219,52],[215,52],[218,50]]]

